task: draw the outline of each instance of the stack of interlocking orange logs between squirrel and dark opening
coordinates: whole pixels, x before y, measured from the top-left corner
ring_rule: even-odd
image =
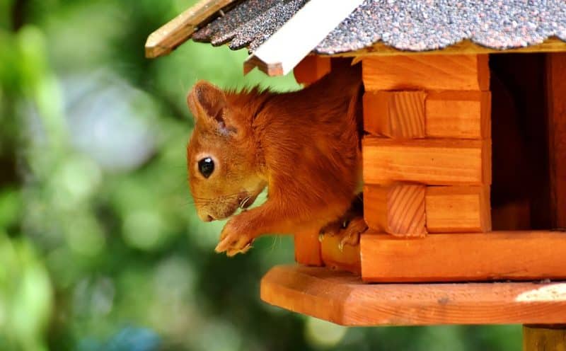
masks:
[[[487,55],[364,57],[362,67],[370,229],[490,231]]]

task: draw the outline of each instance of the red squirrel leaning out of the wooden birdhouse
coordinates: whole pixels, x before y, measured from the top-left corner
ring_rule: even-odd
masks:
[[[362,185],[361,94],[359,65],[289,93],[195,84],[187,168],[198,215],[212,221],[243,209],[216,252],[236,255],[262,234],[306,229],[340,231],[341,245],[359,240],[366,224],[349,209]],[[266,186],[265,203],[248,209]]]

